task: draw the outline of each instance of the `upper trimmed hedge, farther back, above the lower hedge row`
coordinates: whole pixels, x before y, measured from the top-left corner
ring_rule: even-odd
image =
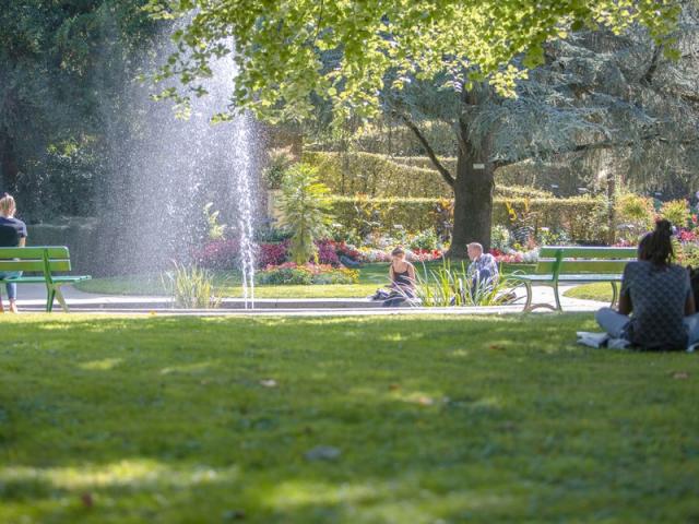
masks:
[[[445,198],[451,188],[425,156],[390,157],[375,153],[306,152],[304,162],[318,168],[320,180],[334,194],[371,198]],[[455,158],[445,158],[454,172]],[[548,198],[550,193],[522,186],[497,186],[496,195]]]

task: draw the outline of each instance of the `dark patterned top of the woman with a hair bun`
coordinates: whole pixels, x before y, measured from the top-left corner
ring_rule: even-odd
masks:
[[[645,349],[685,348],[685,303],[690,293],[686,269],[675,264],[657,267],[648,261],[629,262],[621,283],[621,295],[629,296],[633,309],[628,340]]]

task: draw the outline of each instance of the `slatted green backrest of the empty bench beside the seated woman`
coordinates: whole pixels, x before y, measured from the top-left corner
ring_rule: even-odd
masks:
[[[579,248],[546,246],[538,252],[535,273],[541,275],[620,274],[637,260],[636,248]],[[560,261],[559,261],[560,259]]]

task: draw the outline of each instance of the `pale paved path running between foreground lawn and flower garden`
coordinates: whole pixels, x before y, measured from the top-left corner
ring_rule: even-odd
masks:
[[[595,311],[605,306],[604,302],[579,300],[564,297],[565,290],[574,286],[560,288],[564,311]],[[162,314],[286,314],[286,315],[377,315],[377,314],[502,314],[518,313],[522,310],[523,288],[516,306],[498,306],[486,308],[382,308],[379,302],[363,298],[321,298],[321,299],[259,299],[256,308],[245,309],[242,299],[225,299],[217,310],[175,310],[167,297],[140,297],[122,295],[96,295],[83,293],[71,286],[63,288],[63,295],[71,311],[74,312],[122,312]],[[19,289],[19,307],[23,311],[43,311],[46,303],[46,287],[42,284],[23,284]],[[534,287],[534,302],[554,303],[553,289],[547,286]],[[58,303],[55,311],[60,311]],[[546,312],[547,310],[537,310]]]

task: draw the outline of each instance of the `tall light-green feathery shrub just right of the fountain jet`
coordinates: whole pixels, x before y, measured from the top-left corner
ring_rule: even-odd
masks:
[[[282,190],[282,225],[292,234],[292,260],[305,264],[317,257],[315,241],[329,234],[330,190],[318,181],[317,169],[307,164],[296,164],[286,171]]]

